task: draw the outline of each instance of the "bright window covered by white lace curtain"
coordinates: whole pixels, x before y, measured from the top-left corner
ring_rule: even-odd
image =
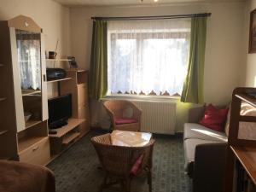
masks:
[[[190,19],[108,22],[108,92],[177,95],[189,55]]]

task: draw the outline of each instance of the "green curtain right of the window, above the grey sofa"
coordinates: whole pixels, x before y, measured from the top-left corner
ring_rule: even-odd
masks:
[[[183,84],[181,102],[204,102],[203,80],[206,38],[207,17],[192,18],[188,73]]]

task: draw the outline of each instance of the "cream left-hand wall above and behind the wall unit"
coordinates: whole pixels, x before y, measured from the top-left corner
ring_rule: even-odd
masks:
[[[70,53],[69,9],[51,0],[0,0],[0,20],[9,20],[18,15],[32,17],[43,28],[45,49],[55,50],[58,55]],[[52,67],[53,63],[47,63]],[[55,95],[55,85],[49,84],[49,97]]]

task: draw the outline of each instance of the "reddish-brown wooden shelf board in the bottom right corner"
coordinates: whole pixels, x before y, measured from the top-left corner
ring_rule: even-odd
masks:
[[[256,148],[230,146],[241,165],[256,185]]]

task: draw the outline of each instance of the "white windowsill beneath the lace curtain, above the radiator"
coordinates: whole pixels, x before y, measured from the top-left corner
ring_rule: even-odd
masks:
[[[102,98],[102,101],[109,99],[143,100],[148,102],[164,102],[170,100],[180,100],[180,96],[134,96],[129,94],[112,94]]]

